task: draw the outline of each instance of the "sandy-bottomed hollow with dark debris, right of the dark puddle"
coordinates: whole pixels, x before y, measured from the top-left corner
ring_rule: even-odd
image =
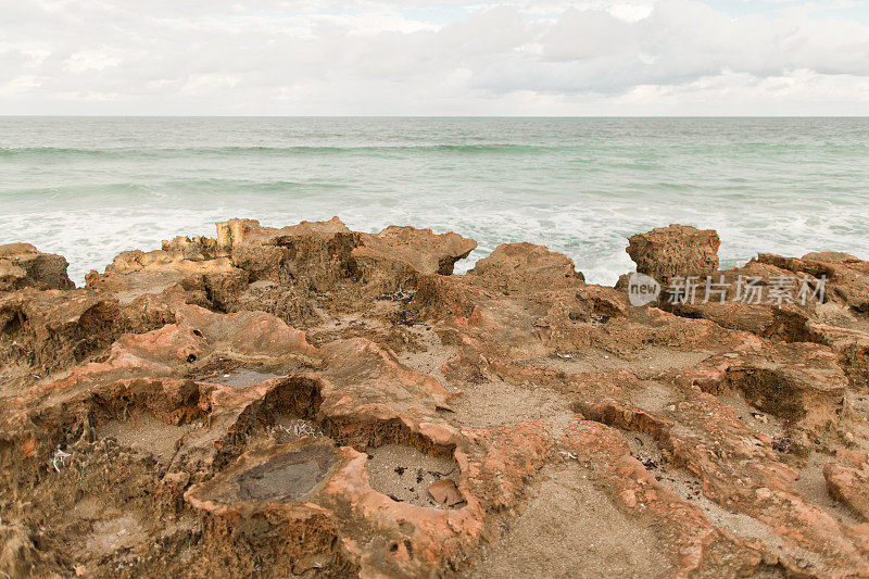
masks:
[[[386,444],[368,452],[368,483],[393,501],[417,506],[450,508],[436,501],[428,488],[442,479],[457,480],[458,465],[452,458],[431,456],[404,444]],[[461,508],[458,503],[453,508]]]

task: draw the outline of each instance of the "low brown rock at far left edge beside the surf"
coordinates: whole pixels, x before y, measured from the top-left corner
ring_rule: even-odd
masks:
[[[62,255],[40,253],[29,243],[0,246],[0,291],[72,289],[68,265]]]

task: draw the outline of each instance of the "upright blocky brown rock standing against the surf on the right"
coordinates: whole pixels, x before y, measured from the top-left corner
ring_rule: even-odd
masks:
[[[675,276],[707,276],[718,269],[721,241],[713,229],[670,225],[631,236],[628,255],[637,270],[667,282]]]

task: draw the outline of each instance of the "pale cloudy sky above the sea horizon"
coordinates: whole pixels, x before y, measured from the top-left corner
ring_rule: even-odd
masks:
[[[865,115],[869,0],[3,0],[0,114]]]

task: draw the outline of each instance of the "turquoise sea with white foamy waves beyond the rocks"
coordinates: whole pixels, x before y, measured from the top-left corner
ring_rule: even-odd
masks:
[[[0,117],[0,243],[62,253],[80,282],[127,249],[213,223],[338,215],[631,270],[626,238],[718,230],[758,251],[869,259],[869,118]]]

